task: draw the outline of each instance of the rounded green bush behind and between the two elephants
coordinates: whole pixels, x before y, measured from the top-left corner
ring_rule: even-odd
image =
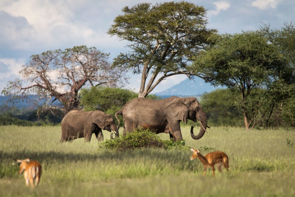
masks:
[[[114,117],[115,113],[120,110],[125,103],[133,98],[137,98],[138,93],[128,89],[112,87],[91,87],[82,89],[80,92],[80,106],[85,111],[100,110]],[[159,99],[155,95],[148,95],[150,99]],[[118,116],[121,126],[123,126],[122,116]],[[117,119],[114,119],[117,122]]]

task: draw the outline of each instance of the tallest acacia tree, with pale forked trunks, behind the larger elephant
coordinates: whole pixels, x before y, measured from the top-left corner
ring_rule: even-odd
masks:
[[[123,14],[114,19],[108,34],[127,40],[131,51],[120,53],[113,66],[141,73],[138,97],[146,97],[169,76],[202,77],[191,71],[189,63],[216,32],[206,28],[206,11],[185,1],[140,3],[124,7]]]

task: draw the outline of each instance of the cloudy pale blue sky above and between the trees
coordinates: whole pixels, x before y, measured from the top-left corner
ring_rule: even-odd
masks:
[[[124,41],[106,34],[124,6],[135,0],[1,0],[0,1],[0,91],[18,77],[21,66],[32,54],[77,45],[95,46],[111,53],[111,58],[128,51]],[[258,29],[262,23],[283,27],[295,22],[294,0],[189,1],[208,9],[208,27],[219,33],[239,33]],[[160,92],[186,79],[172,76],[152,93]],[[137,90],[140,76],[130,74],[130,89]]]

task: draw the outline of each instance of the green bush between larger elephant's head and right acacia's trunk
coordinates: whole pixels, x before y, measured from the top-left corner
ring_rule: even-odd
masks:
[[[200,101],[210,125],[242,126],[243,113],[237,108],[236,102],[236,96],[229,89],[204,93]]]

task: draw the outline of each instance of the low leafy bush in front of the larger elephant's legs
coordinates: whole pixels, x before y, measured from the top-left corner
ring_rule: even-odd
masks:
[[[136,148],[189,149],[188,146],[185,146],[185,141],[162,140],[154,131],[143,128],[137,128],[133,132],[114,140],[106,140],[101,143],[101,147],[119,151]]]

